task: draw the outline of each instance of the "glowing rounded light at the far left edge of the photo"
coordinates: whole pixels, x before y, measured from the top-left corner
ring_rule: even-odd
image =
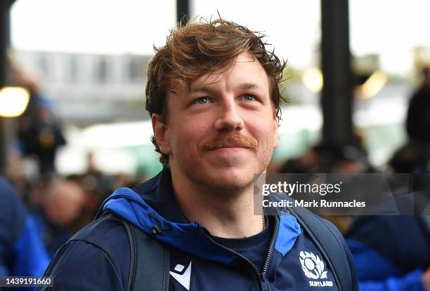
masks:
[[[0,116],[17,117],[27,108],[30,93],[21,87],[4,87],[0,90]]]

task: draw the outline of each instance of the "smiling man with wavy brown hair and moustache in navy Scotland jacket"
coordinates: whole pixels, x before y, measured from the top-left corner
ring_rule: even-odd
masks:
[[[169,290],[341,290],[294,216],[254,213],[255,174],[278,146],[285,65],[260,36],[221,19],[178,27],[156,51],[146,109],[164,169],[115,191],[60,248],[46,272],[54,289],[130,290],[142,274],[130,271],[126,220],[169,250]]]

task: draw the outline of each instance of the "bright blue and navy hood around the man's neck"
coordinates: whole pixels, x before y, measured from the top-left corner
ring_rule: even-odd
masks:
[[[171,187],[170,170],[133,189],[119,188],[100,206],[96,219],[103,212],[115,215],[134,224],[148,236],[183,252],[230,264],[236,259],[219,245],[209,241],[209,231],[198,222],[189,222],[180,212]],[[281,215],[275,249],[284,256],[301,234],[299,223],[292,215]]]

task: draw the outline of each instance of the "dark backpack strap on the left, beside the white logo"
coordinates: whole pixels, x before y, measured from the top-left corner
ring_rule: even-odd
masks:
[[[168,291],[169,248],[129,222],[124,227],[131,253],[127,291]]]

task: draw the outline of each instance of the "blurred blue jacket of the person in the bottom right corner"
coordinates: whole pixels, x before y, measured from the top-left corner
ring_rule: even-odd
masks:
[[[346,234],[362,291],[426,291],[430,238],[414,216],[360,217]]]

